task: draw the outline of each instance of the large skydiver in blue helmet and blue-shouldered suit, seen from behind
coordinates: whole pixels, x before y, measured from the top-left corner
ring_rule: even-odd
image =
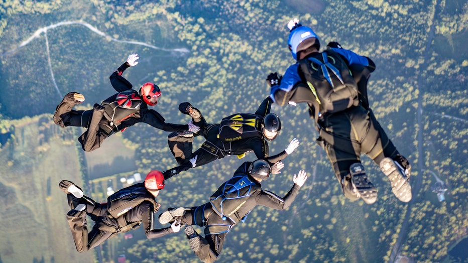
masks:
[[[364,153],[389,178],[395,196],[409,202],[411,166],[369,108],[367,80],[375,69],[374,62],[342,49],[336,42],[319,52],[320,43],[311,28],[302,26],[297,19],[291,20],[288,27],[289,49],[297,62],[289,66],[284,77],[276,72],[267,77],[273,101],[278,105],[309,105],[319,134],[317,143],[325,149],[348,199],[362,198],[368,204],[377,200],[377,189],[361,163],[360,155]]]

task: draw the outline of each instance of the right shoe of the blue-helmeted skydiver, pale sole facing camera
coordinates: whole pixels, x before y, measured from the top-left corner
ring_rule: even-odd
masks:
[[[380,162],[380,169],[390,180],[393,194],[402,202],[409,202],[412,198],[411,186],[405,170],[398,162],[391,158],[384,158]]]

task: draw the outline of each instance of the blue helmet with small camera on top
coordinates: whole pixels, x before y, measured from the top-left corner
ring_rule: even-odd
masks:
[[[312,40],[310,38],[314,38],[314,39]],[[309,40],[310,43],[308,43],[309,45],[303,45],[299,47],[299,45],[306,39],[310,39]],[[297,53],[299,51],[302,51],[313,45],[316,45],[317,49],[320,49],[320,42],[318,41],[318,37],[315,34],[315,32],[309,27],[305,27],[305,26],[302,26],[301,24],[296,23],[295,26],[291,29],[291,33],[289,33],[289,39],[288,39],[288,46],[289,46],[289,49],[291,50],[293,58],[297,60]]]

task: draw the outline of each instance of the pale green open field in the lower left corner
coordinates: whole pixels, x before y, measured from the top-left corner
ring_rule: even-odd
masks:
[[[0,261],[94,262],[75,250],[58,188],[62,179],[82,183],[71,129],[44,115],[12,122],[15,138],[0,149]]]

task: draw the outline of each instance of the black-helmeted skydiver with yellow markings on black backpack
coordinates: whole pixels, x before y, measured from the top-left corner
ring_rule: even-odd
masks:
[[[272,100],[267,97],[255,113],[236,113],[227,116],[220,123],[207,124],[201,112],[189,102],[179,105],[179,110],[192,117],[189,130],[174,132],[168,136],[169,148],[179,166],[163,172],[169,179],[182,171],[210,163],[228,155],[242,158],[246,152],[253,151],[257,159],[264,159],[270,165],[283,160],[298,146],[294,138],[281,153],[269,156],[267,141],[273,141],[281,129],[278,115],[270,113]],[[192,153],[194,136],[202,135],[205,142]]]

